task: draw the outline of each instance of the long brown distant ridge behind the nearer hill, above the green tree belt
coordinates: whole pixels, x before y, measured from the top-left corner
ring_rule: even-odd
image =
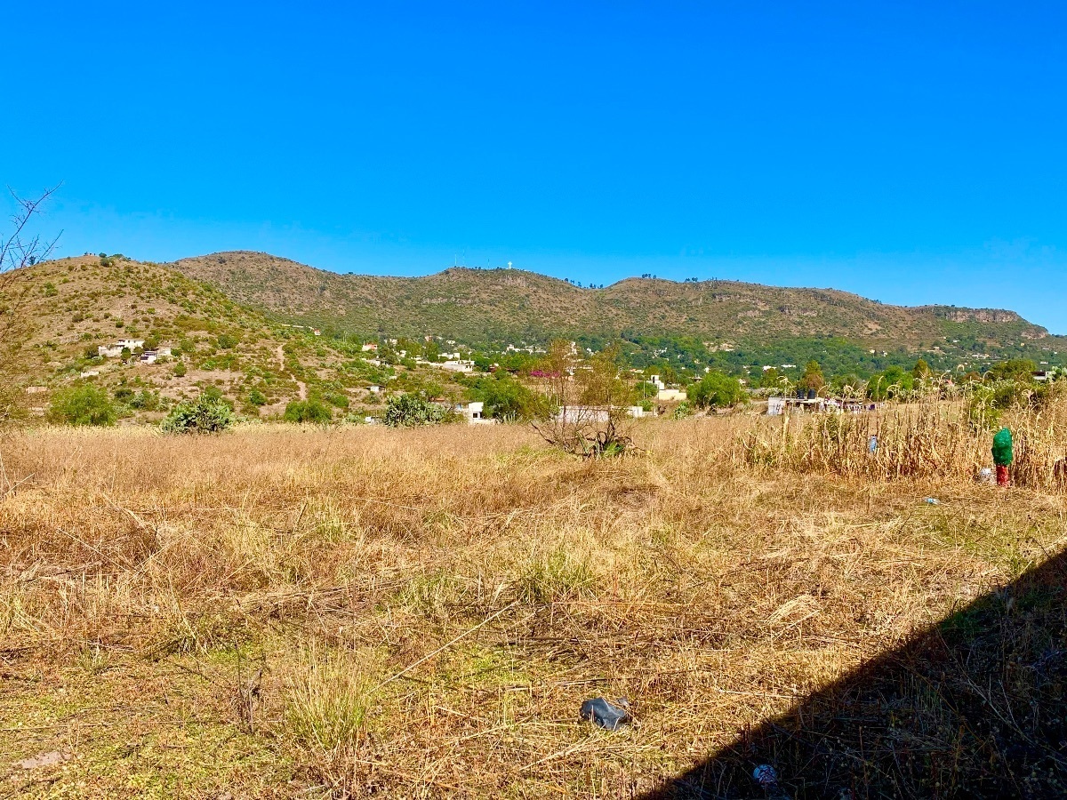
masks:
[[[833,289],[636,277],[593,289],[507,269],[450,268],[424,277],[340,275],[245,251],[171,266],[278,319],[365,335],[432,333],[473,346],[556,336],[689,336],[749,346],[839,337],[879,350],[1015,355],[1058,350],[1067,342],[1008,310],[894,306]]]

